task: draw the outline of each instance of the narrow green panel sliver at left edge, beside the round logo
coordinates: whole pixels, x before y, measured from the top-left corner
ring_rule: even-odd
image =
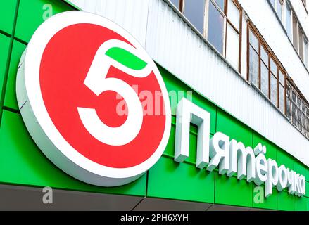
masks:
[[[4,94],[4,77],[6,75],[6,63],[8,61],[8,48],[10,46],[10,38],[0,34],[0,99]],[[0,105],[1,107],[2,105]],[[0,108],[1,110],[1,108]],[[1,113],[0,113],[1,115]]]

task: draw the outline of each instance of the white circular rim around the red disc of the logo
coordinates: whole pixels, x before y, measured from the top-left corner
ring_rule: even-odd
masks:
[[[165,103],[165,131],[163,134],[163,138],[161,139],[160,145],[156,149],[155,153],[153,153],[150,158],[148,158],[139,165],[127,168],[112,168],[99,165],[98,163],[89,160],[88,158],[84,157],[84,155],[78,153],[77,150],[75,150],[72,146],[70,146],[70,143],[68,143],[68,141],[63,138],[58,129],[56,129],[51,118],[49,117],[49,113],[47,113],[39,84],[39,67],[41,64],[44,49],[49,43],[50,39],[53,37],[53,35],[56,34],[59,30],[68,27],[69,25],[75,25],[79,23],[91,23],[94,25],[100,25],[110,30],[113,30],[114,32],[117,32],[122,37],[127,39],[127,41],[130,41],[130,43],[135,48],[139,49],[141,53],[144,53],[144,58],[148,59],[147,61],[153,64],[153,72],[156,75],[156,78],[160,85]],[[37,124],[39,124],[39,127],[42,128],[44,134],[46,135],[47,139],[44,141],[51,141],[53,146],[55,146],[55,149],[53,150],[56,151],[56,154],[46,152],[46,149],[41,150],[53,163],[63,169],[63,171],[87,183],[89,183],[90,181],[92,184],[96,184],[99,186],[119,186],[122,184],[127,184],[134,179],[137,179],[159,160],[165,150],[168,139],[170,137],[171,112],[168,92],[166,90],[165,83],[163,82],[163,78],[161,77],[160,72],[156,67],[156,64],[146,53],[143,46],[141,46],[141,44],[139,44],[139,42],[134,39],[134,37],[132,37],[132,35],[126,30],[124,30],[122,27],[116,25],[111,20],[101,17],[100,15],[86,13],[84,11],[70,11],[53,15],[53,17],[42,23],[42,25],[40,25],[34,32],[26,49],[24,63],[25,77],[23,78],[25,82],[24,85],[27,94],[27,101],[29,103],[28,105],[33,112],[33,119],[37,120]],[[18,77],[18,79],[21,79],[21,76]],[[18,89],[18,85],[16,85],[16,87]],[[25,96],[19,96],[20,91],[17,90],[16,92],[18,98],[25,98]],[[20,101],[18,101],[18,103],[20,103]],[[23,110],[20,111],[23,115]],[[23,119],[25,120],[24,117]],[[28,123],[25,122],[25,124],[27,126]],[[30,134],[32,135],[32,138],[34,138],[34,141],[36,141],[35,139],[37,131],[32,131],[31,126],[27,126],[27,129],[30,131]],[[42,137],[42,134],[40,136]],[[51,143],[47,144],[50,145]],[[47,150],[50,151],[50,149]],[[59,156],[64,157],[64,159],[62,158],[61,160],[59,160]],[[66,160],[65,158],[69,160],[69,163],[75,164],[75,169],[77,166],[80,167],[82,170],[84,169],[84,171],[80,171],[77,174],[75,172],[72,172],[75,171],[75,169],[70,169],[69,165],[61,165],[61,163],[63,163],[63,160]],[[94,176],[85,177],[85,174],[87,174],[87,176],[92,176],[93,174]],[[99,180],[98,178],[101,178],[101,180]],[[108,180],[107,185],[106,179]],[[115,181],[113,181],[113,179],[115,179]]]

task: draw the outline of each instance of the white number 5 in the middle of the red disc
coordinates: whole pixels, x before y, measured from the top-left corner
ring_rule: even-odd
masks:
[[[122,70],[128,75],[146,77],[151,72],[151,66],[147,63],[146,67],[142,70],[133,70],[118,63],[118,61],[113,58],[106,56],[106,51],[115,46],[125,49],[145,60],[144,56],[140,56],[137,49],[130,44],[115,39],[106,41],[99,47],[98,51],[96,51],[96,55],[89,68],[87,77],[84,80],[84,84],[93,91],[96,96],[99,96],[103,91],[115,91],[120,94],[127,104],[127,120],[120,127],[109,127],[100,120],[94,108],[78,107],[77,110],[82,124],[84,124],[84,127],[94,138],[111,146],[123,146],[130,143],[139,134],[143,122],[141,101],[129,84],[121,79],[112,77],[106,78],[106,75],[111,65],[113,65],[115,68]],[[105,105],[105,107],[110,106]]]

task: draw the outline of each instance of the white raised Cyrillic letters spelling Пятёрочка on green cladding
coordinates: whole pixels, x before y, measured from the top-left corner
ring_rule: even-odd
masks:
[[[305,195],[305,176],[266,159],[266,146],[261,143],[253,149],[221,132],[209,140],[210,113],[186,98],[177,105],[175,161],[183,162],[189,157],[190,123],[198,126],[196,167],[206,167],[210,172],[218,167],[219,174],[237,174],[237,179],[246,178],[258,186],[265,184],[265,197],[272,194],[273,187],[278,191],[289,188],[290,194]]]

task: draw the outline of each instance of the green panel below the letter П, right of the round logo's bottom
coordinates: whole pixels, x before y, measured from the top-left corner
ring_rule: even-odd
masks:
[[[215,174],[161,157],[149,169],[147,196],[213,203]]]

